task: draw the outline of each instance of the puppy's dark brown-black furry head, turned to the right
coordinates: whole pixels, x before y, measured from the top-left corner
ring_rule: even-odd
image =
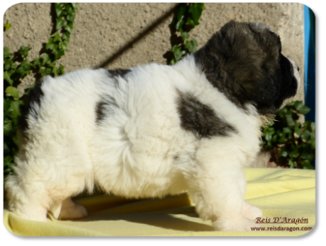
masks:
[[[240,107],[252,102],[261,114],[274,113],[296,95],[296,63],[281,54],[281,40],[266,25],[230,21],[195,53],[208,81]]]

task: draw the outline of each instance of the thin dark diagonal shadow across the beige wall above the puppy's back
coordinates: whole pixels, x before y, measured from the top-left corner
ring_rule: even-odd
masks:
[[[178,6],[178,4],[176,4],[176,6]],[[112,54],[111,57],[109,57],[106,61],[102,62],[101,64],[99,64],[97,66],[95,66],[95,69],[99,69],[99,68],[103,68],[103,67],[108,66],[108,64],[111,64],[111,62],[113,62],[115,59],[117,59],[121,54],[123,54],[128,49],[130,49],[130,47],[133,47],[133,45],[135,45],[135,43],[137,43],[138,41],[140,41],[142,39],[142,37],[144,37],[145,35],[147,35],[148,33],[150,33],[150,31],[153,30],[154,28],[157,28],[157,26],[159,24],[161,24],[163,21],[165,21],[167,18],[169,18],[169,16],[172,16],[172,14],[174,13],[174,11],[176,9],[176,6],[174,6],[169,11],[167,11],[167,13],[165,13],[163,16],[161,16],[160,18],[158,18],[157,21],[155,21],[154,23],[152,23],[152,25],[150,25],[147,28],[145,28],[145,30],[143,30],[142,33],[140,33],[133,40],[131,40],[130,42],[128,42],[127,44],[125,44],[116,53]]]

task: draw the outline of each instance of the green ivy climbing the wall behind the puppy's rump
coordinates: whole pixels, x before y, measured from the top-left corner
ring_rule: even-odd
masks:
[[[64,56],[69,44],[69,38],[74,28],[77,3],[55,3],[55,33],[47,44],[46,52],[42,56],[28,60],[30,47],[21,46],[18,52],[11,53],[9,47],[4,47],[4,176],[12,175],[14,165],[13,156],[18,151],[17,119],[20,115],[19,107],[23,105],[23,96],[20,97],[16,87],[27,75],[35,78],[47,74],[58,76],[64,74],[64,66],[58,66],[56,61]],[[4,30],[9,31],[11,24],[6,21]]]

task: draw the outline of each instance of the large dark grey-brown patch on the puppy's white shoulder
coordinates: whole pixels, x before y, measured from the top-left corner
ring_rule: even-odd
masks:
[[[220,119],[208,106],[190,94],[179,93],[178,111],[181,127],[200,138],[228,136],[237,132],[234,127]]]

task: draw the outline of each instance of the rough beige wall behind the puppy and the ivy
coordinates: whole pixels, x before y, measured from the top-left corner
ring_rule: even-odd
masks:
[[[74,33],[68,51],[60,59],[65,71],[101,64],[108,69],[128,68],[157,62],[166,64],[163,55],[171,49],[169,24],[174,3],[78,4]],[[303,5],[289,3],[209,3],[200,25],[191,30],[199,47],[227,21],[252,21],[269,25],[281,36],[283,54],[294,59],[303,78]],[[4,46],[11,52],[21,45],[32,47],[30,59],[39,56],[52,30],[51,4],[16,4],[4,14],[13,27],[4,33]],[[154,28],[148,28],[154,25]],[[131,44],[131,45],[130,45]],[[123,52],[119,51],[123,49]],[[112,59],[114,57],[114,59]],[[26,78],[21,91],[33,77]],[[303,86],[295,99],[303,100]]]

